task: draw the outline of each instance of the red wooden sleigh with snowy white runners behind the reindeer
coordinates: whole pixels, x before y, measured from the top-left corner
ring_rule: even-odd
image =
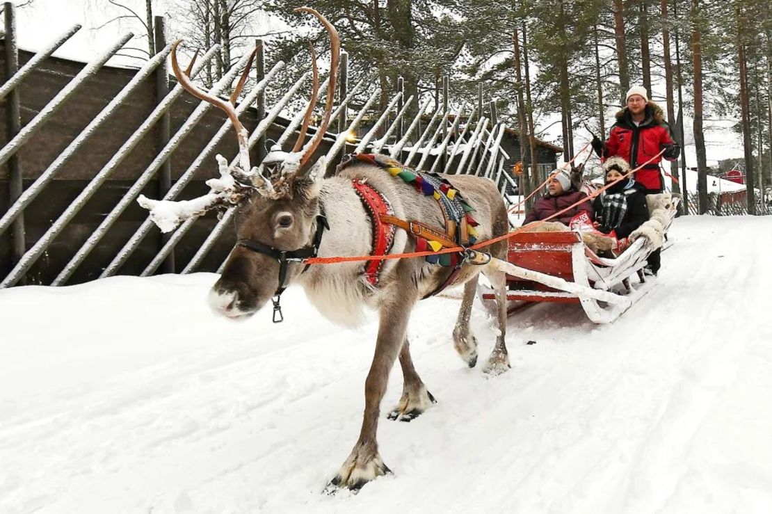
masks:
[[[677,198],[651,195],[651,219],[616,258],[604,258],[585,245],[580,232],[520,232],[510,237],[506,272],[507,313],[540,302],[578,303],[594,323],[611,323],[651,290],[642,268],[675,218]],[[637,278],[637,282],[632,279]],[[485,303],[495,300],[481,286]]]

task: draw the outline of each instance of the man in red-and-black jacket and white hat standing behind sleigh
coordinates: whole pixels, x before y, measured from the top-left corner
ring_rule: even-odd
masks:
[[[646,194],[662,193],[665,182],[659,172],[659,161],[662,157],[675,161],[680,147],[672,138],[662,108],[648,100],[645,87],[631,87],[625,103],[625,107],[617,113],[608,140],[604,143],[594,137],[592,147],[603,160],[621,157],[628,161],[630,167],[638,167],[659,154],[660,150],[665,150],[661,157],[656,157],[635,173],[635,181],[645,188]]]

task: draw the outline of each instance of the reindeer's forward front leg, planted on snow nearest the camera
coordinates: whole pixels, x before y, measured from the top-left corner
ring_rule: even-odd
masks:
[[[370,373],[367,374],[367,380],[364,383],[362,430],[357,444],[351,450],[351,455],[340,467],[332,482],[327,485],[327,492],[333,492],[337,487],[358,490],[367,482],[391,472],[378,454],[376,432],[388,374],[405,341],[408,319],[417,298],[415,291],[414,294],[405,294],[404,289],[401,288],[399,294],[384,295],[389,299],[381,306],[375,355]]]

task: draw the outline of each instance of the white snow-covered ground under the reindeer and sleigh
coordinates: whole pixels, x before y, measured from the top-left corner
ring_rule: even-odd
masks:
[[[212,274],[0,291],[0,512],[772,512],[772,218],[679,218],[659,283],[611,326],[510,319],[512,370],[455,355],[419,304],[438,404],[381,419],[394,475],[321,490],[357,438],[376,323],[208,312]],[[492,324],[476,309],[484,356]],[[527,345],[528,340],[536,344]],[[398,401],[392,374],[382,411]]]

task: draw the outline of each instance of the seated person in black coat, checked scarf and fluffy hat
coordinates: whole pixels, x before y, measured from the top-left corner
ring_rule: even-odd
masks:
[[[623,177],[630,165],[621,157],[610,157],[603,164],[606,184]],[[598,232],[617,239],[627,238],[648,221],[645,188],[632,178],[623,178],[598,194],[593,201]]]

